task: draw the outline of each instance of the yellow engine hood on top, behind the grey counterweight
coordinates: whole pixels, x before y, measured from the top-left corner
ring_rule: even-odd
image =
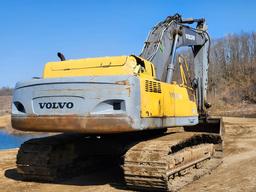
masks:
[[[145,68],[143,69],[140,65],[137,65],[137,61],[133,56],[98,57],[49,62],[44,67],[43,78],[136,75],[141,70],[144,70],[143,75],[152,76],[152,64],[146,60],[143,61],[145,64]]]

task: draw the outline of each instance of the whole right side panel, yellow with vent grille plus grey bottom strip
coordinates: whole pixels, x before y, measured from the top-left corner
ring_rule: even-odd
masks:
[[[196,103],[186,88],[147,78],[140,78],[141,125],[163,128],[198,123]]]

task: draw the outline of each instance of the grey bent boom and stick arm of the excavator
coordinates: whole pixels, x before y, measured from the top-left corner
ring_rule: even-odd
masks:
[[[196,23],[196,28],[189,25]],[[210,38],[204,19],[183,19],[179,14],[167,17],[150,31],[141,57],[154,63],[157,78],[170,83],[174,59],[179,47],[191,47],[194,56],[196,98],[200,115],[205,114],[208,85]]]

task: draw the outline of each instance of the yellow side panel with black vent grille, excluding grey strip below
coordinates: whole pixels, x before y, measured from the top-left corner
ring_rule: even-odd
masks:
[[[141,117],[198,116],[196,103],[185,87],[140,78]]]

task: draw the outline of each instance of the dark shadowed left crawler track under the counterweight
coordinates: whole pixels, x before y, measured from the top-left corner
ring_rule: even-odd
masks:
[[[31,139],[19,149],[17,170],[25,180],[55,181],[115,163],[119,149],[109,140],[73,134]]]

